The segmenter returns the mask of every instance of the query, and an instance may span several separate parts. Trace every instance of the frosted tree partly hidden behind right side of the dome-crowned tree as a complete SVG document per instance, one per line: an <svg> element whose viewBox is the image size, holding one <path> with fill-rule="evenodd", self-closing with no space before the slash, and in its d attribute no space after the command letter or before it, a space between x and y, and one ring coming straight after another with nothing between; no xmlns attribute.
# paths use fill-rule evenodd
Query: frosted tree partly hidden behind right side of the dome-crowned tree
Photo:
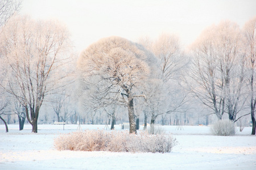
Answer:
<svg viewBox="0 0 256 170"><path fill-rule="evenodd" d="M147 88L148 95L151 96L147 100L147 113L151 117L151 129L154 130L156 117L174 112L184 104L186 92L177 91L180 86L177 86L177 82L180 82L181 71L187 65L187 59L181 51L179 37L175 35L163 33L155 41L141 37L139 43L151 50L158 59L158 80L154 80L151 87ZM177 92L180 92L179 97L175 96Z"/></svg>

